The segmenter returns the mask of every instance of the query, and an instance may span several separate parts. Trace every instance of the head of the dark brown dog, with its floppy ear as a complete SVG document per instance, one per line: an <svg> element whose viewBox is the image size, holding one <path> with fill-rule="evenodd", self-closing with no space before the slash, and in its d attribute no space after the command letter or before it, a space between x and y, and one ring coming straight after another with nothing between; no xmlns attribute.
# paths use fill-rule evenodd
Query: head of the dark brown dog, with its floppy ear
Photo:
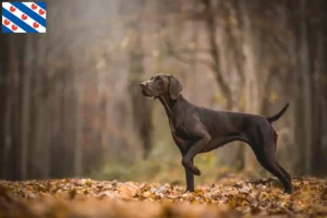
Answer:
<svg viewBox="0 0 327 218"><path fill-rule="evenodd" d="M183 86L172 75L157 74L140 84L142 94L146 97L159 97L160 95L169 95L171 99L177 99L181 94Z"/></svg>

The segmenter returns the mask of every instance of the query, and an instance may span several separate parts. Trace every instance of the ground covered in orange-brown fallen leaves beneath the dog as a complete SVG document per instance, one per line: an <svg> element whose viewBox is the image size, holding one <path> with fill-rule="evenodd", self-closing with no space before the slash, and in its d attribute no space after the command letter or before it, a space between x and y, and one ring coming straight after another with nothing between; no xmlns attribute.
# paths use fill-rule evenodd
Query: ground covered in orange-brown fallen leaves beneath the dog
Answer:
<svg viewBox="0 0 327 218"><path fill-rule="evenodd" d="M2 217L327 217L327 180L221 180L184 186L89 179L0 181Z"/></svg>

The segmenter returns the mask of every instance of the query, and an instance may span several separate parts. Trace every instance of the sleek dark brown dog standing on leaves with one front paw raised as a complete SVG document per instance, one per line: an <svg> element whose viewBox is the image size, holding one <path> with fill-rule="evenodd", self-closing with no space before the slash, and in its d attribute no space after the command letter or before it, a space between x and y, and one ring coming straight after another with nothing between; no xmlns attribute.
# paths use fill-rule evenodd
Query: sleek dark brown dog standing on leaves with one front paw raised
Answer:
<svg viewBox="0 0 327 218"><path fill-rule="evenodd" d="M275 156L278 135L271 126L289 104L272 117L216 111L189 102L181 95L182 84L170 74L157 74L140 85L144 96L159 99L166 110L172 138L182 154L186 192L194 192L194 174L201 175L199 169L193 165L197 154L241 141L249 144L259 164L280 180L284 193L292 193L291 175Z"/></svg>

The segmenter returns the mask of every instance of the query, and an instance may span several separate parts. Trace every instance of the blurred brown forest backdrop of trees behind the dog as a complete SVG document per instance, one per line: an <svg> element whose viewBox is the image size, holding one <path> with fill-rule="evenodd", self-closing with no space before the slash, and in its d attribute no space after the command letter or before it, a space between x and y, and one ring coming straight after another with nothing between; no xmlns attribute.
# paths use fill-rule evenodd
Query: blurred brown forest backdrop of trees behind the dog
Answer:
<svg viewBox="0 0 327 218"><path fill-rule="evenodd" d="M47 34L0 35L0 179L183 182L164 107L138 86L156 73L217 110L272 116L289 101L278 159L327 174L326 0L47 3ZM201 181L266 173L242 143L195 161Z"/></svg>

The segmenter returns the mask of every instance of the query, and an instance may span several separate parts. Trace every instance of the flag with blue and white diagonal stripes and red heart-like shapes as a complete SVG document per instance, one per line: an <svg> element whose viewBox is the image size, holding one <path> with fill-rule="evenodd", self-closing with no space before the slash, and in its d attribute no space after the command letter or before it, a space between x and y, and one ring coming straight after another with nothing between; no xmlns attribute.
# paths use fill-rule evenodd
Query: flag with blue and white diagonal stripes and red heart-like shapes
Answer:
<svg viewBox="0 0 327 218"><path fill-rule="evenodd" d="M2 2L2 33L47 33L46 2Z"/></svg>

